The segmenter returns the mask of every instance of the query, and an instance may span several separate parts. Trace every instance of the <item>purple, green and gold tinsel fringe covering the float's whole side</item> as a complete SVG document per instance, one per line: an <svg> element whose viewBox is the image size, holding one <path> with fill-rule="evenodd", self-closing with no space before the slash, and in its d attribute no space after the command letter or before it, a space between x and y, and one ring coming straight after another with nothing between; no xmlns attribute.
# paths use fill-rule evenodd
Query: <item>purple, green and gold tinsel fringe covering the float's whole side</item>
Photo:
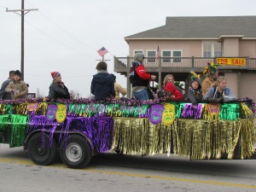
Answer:
<svg viewBox="0 0 256 192"><path fill-rule="evenodd" d="M26 135L37 129L49 132L52 143L58 123L47 123L45 113L49 103L38 102L35 113L30 113L27 119L27 115L20 115L27 113L25 102L0 102L0 131L11 128L10 147L22 146ZM110 148L119 149L123 154L141 155L170 154L173 151L190 160L219 159L223 154L228 154L229 159L237 155L244 159L253 153L254 113L246 102L224 103L214 115L207 110L207 104L200 103L201 108L193 111L186 103L173 102L176 117L187 119L175 119L168 126L162 123L153 125L148 119L148 108L160 101L58 102L67 104L68 114L59 125L59 143L69 137L70 131L79 131L97 152ZM237 145L241 148L238 154L235 153Z"/></svg>

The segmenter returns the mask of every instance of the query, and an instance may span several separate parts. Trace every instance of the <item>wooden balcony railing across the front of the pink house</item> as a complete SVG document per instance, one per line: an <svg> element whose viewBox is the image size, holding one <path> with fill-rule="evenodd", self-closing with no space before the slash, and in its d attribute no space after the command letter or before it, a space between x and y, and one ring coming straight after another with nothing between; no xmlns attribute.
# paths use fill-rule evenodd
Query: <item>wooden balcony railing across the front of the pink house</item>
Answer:
<svg viewBox="0 0 256 192"><path fill-rule="evenodd" d="M232 57L229 57L232 58ZM239 58L239 57L233 57ZM241 70L256 70L256 58L241 57L246 58L245 66L231 66L231 65L221 65L218 69L241 69ZM133 57L114 57L114 70L116 72L127 72L130 70L131 62ZM160 57L156 60L154 57L145 57L143 64L146 68L159 68L162 71L168 69L176 69L178 72L184 69L194 69L199 71L206 67L207 62L216 63L216 57Z"/></svg>

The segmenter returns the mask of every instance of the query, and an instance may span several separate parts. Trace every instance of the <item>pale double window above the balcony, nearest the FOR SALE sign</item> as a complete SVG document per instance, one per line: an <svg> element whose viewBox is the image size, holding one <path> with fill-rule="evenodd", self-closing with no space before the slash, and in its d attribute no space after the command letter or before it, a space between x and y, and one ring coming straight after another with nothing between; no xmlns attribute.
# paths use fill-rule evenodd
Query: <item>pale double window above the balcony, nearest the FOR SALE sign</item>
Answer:
<svg viewBox="0 0 256 192"><path fill-rule="evenodd" d="M203 57L222 56L222 43L205 41L202 44Z"/></svg>

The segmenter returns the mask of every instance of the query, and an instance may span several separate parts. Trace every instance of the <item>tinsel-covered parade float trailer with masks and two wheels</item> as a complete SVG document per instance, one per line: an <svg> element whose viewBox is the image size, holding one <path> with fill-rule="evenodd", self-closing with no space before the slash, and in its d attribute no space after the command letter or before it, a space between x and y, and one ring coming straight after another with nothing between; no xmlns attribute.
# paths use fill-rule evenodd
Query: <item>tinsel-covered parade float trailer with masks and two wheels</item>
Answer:
<svg viewBox="0 0 256 192"><path fill-rule="evenodd" d="M37 165L60 154L71 168L91 156L180 155L189 160L248 159L254 150L252 99L224 104L121 98L0 101L0 143L23 146ZM1 149L1 148L0 148Z"/></svg>

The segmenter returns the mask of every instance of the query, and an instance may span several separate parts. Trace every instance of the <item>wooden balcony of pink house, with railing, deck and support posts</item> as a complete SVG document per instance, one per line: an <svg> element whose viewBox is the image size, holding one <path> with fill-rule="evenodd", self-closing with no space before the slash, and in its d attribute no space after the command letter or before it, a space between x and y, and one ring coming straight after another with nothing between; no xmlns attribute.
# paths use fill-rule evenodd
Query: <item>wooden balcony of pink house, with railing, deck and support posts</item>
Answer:
<svg viewBox="0 0 256 192"><path fill-rule="evenodd" d="M224 57L222 57L224 58ZM239 57L227 57L227 58L239 58ZM218 67L219 74L222 73L256 73L256 58L246 58L245 66L231 66L221 65ZM133 57L114 57L114 72L129 76L131 62ZM154 57L145 57L143 64L146 67L146 71L150 74L154 74L157 78L155 82L161 84L166 77L166 74L172 73L175 81L183 81L188 84L190 71L195 73L203 73L207 62L216 63L216 57L160 57L156 60ZM131 84L130 79L126 81L127 85L127 96L131 96Z"/></svg>

